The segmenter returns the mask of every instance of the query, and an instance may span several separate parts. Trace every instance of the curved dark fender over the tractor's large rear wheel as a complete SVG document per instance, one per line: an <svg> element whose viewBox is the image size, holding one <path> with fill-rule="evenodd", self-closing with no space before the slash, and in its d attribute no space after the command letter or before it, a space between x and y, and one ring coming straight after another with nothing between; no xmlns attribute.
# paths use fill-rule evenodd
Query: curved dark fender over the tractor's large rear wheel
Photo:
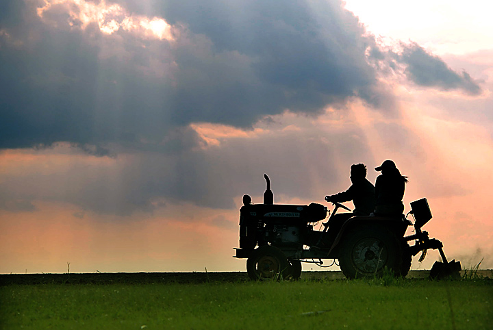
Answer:
<svg viewBox="0 0 493 330"><path fill-rule="evenodd" d="M346 233L349 233L353 228L359 227L360 225L376 225L376 226L383 226L383 227L388 227L392 230L394 227L400 227L402 226L402 236L404 235L405 229L409 225L409 221L405 219L404 216L352 216L344 224L342 225L338 236L336 236L336 240L334 240L329 253L327 255L331 255L338 246L340 245L340 242L342 238L346 235ZM395 230L392 230L395 232ZM397 233L396 233L397 234ZM337 258L336 258L337 259Z"/></svg>

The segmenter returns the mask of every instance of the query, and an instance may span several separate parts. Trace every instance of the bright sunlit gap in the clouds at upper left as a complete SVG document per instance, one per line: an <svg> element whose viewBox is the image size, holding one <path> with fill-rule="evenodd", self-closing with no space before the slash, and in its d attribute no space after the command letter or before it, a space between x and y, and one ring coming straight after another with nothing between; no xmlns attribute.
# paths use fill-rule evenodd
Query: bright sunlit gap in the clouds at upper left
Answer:
<svg viewBox="0 0 493 330"><path fill-rule="evenodd" d="M71 27L86 29L96 23L104 34L114 34L123 29L146 38L173 40L172 27L163 18L133 15L121 5L108 4L104 0L97 4L84 0L44 0L37 13L45 18L45 14L52 10L66 12L69 16L67 23Z"/></svg>

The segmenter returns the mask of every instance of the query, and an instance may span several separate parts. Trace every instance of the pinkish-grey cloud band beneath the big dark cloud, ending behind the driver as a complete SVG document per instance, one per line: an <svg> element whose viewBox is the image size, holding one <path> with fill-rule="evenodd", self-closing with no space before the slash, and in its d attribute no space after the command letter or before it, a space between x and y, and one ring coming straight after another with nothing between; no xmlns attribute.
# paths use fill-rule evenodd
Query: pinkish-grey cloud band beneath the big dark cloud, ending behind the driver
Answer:
<svg viewBox="0 0 493 330"><path fill-rule="evenodd" d="M307 127L312 132L301 134ZM216 126L214 131L221 129ZM278 203L291 199L306 203L322 201L329 190L347 188L349 166L371 160L362 132L351 125L325 131L323 125L314 129L311 118L286 114L255 131L256 136L223 138L217 133L214 143L206 138L200 148L188 151L181 145L184 139L172 139L169 148L176 150L166 153L127 150L101 157L70 144L8 151L1 157L0 168L8 176L0 188L10 193L1 199L8 205L19 200L70 203L118 216L152 213L166 201L231 209L245 193L260 203L263 174L268 173ZM344 164L342 173L338 164Z"/></svg>

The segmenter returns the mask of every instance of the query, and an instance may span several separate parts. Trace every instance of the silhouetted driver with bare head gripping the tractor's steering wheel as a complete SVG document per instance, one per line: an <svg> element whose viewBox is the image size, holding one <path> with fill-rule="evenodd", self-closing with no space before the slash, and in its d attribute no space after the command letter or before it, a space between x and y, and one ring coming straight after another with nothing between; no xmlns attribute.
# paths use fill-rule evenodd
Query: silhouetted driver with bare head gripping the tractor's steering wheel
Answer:
<svg viewBox="0 0 493 330"><path fill-rule="evenodd" d="M344 192L325 196L328 202L348 202L353 201L355 210L352 213L336 214L330 221L332 229L340 229L342 224L351 216L368 216L375 210L375 187L366 179L366 166L364 164L351 165L351 187ZM332 231L337 232L337 231Z"/></svg>

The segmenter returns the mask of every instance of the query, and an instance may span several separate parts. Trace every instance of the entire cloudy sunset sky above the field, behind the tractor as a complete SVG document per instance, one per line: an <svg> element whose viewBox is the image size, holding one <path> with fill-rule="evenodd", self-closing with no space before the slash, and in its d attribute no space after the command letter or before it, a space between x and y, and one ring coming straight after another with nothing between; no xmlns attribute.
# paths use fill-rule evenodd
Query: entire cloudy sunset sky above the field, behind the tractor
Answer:
<svg viewBox="0 0 493 330"><path fill-rule="evenodd" d="M493 268L488 6L1 1L0 273L244 271L264 173L330 209L388 159L448 259Z"/></svg>

